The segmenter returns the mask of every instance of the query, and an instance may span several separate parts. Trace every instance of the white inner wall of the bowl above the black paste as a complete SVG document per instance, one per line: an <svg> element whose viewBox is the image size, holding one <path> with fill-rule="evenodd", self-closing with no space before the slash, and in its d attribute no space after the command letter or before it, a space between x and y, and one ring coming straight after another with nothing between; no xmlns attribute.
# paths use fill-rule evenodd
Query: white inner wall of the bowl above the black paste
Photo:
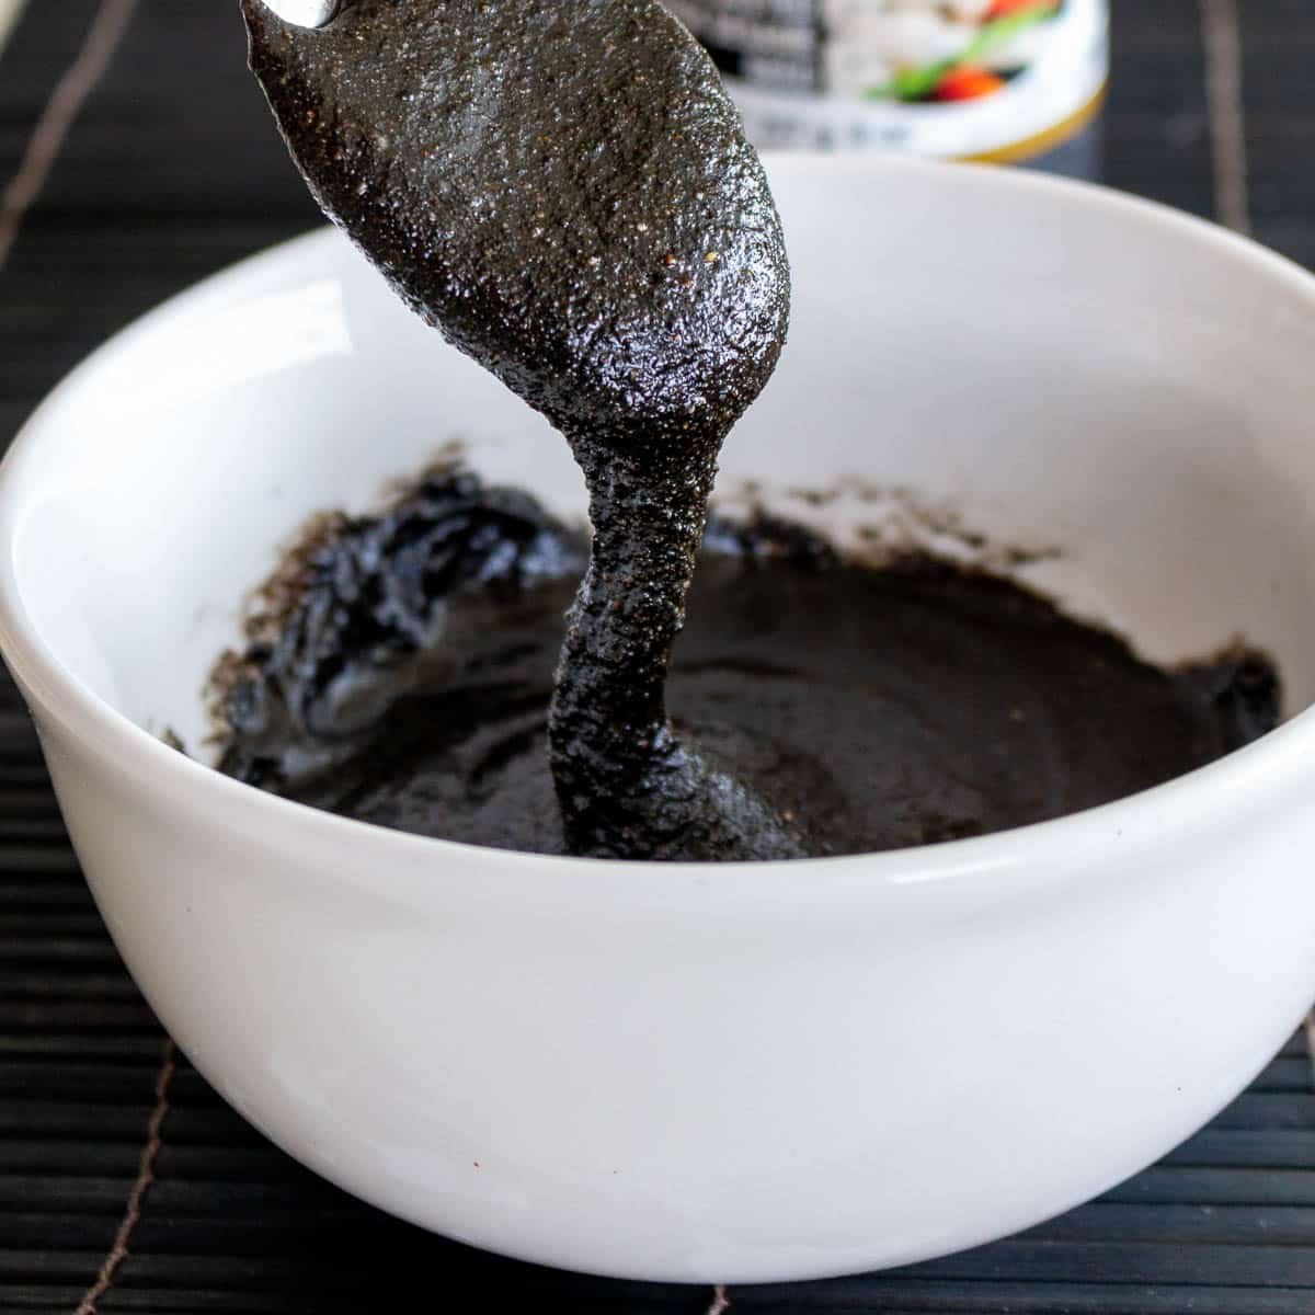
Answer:
<svg viewBox="0 0 1315 1315"><path fill-rule="evenodd" d="M1289 713L1315 698L1312 280L1091 189L907 162L772 175L794 317L727 444L729 497L752 479L840 537L1057 548L1023 579L1147 655L1243 635L1278 658ZM583 514L564 442L316 234L156 312L33 419L3 489L21 606L96 694L199 746L209 665L279 546L454 441Z"/></svg>

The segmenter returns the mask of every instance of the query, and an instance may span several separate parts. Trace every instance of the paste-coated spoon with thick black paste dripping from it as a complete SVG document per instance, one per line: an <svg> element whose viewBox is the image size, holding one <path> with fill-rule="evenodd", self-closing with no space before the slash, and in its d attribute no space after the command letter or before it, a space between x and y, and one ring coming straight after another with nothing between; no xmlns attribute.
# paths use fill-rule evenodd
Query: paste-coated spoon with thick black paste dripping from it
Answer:
<svg viewBox="0 0 1315 1315"><path fill-rule="evenodd" d="M789 313L711 62L654 0L355 0L316 32L243 12L321 206L584 469L594 539L548 729L569 848L801 853L665 710L717 456Z"/></svg>

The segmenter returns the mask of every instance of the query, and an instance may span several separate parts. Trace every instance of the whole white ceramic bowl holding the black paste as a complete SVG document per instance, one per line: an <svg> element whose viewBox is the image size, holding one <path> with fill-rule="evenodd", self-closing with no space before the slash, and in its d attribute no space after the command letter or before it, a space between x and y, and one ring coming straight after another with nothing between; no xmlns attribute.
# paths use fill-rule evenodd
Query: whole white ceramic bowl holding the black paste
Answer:
<svg viewBox="0 0 1315 1315"><path fill-rule="evenodd" d="M1152 658L1272 650L1283 729L1064 821L761 867L466 848L212 773L154 732L200 743L309 512L452 438L584 505L565 444L330 233L121 335L0 477L0 643L164 1024L334 1182L552 1265L782 1279L1007 1233L1207 1120L1315 993L1315 280L1072 184L772 174L793 334L727 481L902 485L1060 544L1026 577Z"/></svg>

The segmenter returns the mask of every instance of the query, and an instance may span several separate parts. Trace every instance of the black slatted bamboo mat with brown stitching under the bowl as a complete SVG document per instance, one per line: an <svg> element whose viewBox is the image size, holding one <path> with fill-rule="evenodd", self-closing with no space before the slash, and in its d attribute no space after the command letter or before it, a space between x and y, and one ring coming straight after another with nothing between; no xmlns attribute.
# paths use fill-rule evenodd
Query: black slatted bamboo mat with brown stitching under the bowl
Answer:
<svg viewBox="0 0 1315 1315"><path fill-rule="evenodd" d="M0 210L0 250L17 230L0 256L0 438L128 320L317 222L245 72L235 11L29 0L0 53L0 187L18 178ZM1315 263L1312 68L1310 0L1116 0L1109 180ZM1304 1039L1161 1165L935 1264L714 1294L501 1261L318 1182L174 1053L0 679L0 1311L701 1315L723 1302L738 1315L1311 1315Z"/></svg>

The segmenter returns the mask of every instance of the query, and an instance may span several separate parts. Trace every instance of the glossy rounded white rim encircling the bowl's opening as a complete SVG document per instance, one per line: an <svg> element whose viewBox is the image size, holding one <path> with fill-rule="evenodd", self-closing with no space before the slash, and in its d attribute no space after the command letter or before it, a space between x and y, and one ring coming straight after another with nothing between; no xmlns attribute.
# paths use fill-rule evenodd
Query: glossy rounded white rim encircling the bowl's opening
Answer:
<svg viewBox="0 0 1315 1315"><path fill-rule="evenodd" d="M1101 184L989 164L942 164L893 155L764 153L764 159L769 172L890 174L894 175L892 187L915 179L928 195L938 189L959 193L1013 189L1031 193L1056 212L1101 212L1115 225L1169 230L1182 241L1211 249L1219 260L1245 268L1256 280L1265 280L1274 288L1285 285L1289 295L1304 297L1315 318L1315 274L1207 220ZM963 201L960 205L964 213L970 213ZM817 903L828 894L852 896L859 888L872 894L897 888L943 890L969 880L978 890L994 888L998 892L1024 873L1028 884L1044 881L1047 873L1070 869L1077 856L1084 868L1099 867L1102 856L1114 846L1126 859L1128 846L1137 840L1162 842L1185 827L1211 821L1219 825L1226 814L1237 817L1261 809L1301 784L1304 764L1315 765L1315 707L1308 707L1260 740L1214 763L1111 803L1045 822L876 853L768 863L661 864L492 849L412 835L268 794L178 752L83 684L46 643L24 605L13 546L33 494L28 469L38 460L47 427L58 429L59 404L75 394L83 379L108 355L156 331L195 300L225 293L246 275L299 252L329 251L345 241L329 226L314 229L250 255L155 306L64 376L18 430L0 463L0 654L47 718L113 761L120 775L137 777L147 790L188 792L192 807L213 811L217 817L231 815L235 810L250 819L251 831L268 839L287 831L302 842L314 842L317 849L322 844L325 852L359 849L362 857L370 856L370 880L380 890L391 876L380 860L392 856L400 865L427 859L426 867L438 882L441 873L446 874L454 865L468 868L473 863L481 881L497 881L513 873L538 880L550 873L575 874L588 876L594 889L601 884L610 890L618 889L614 878L622 877L619 889L648 894L673 893L675 886L684 885L700 892L704 899L726 896L736 897L738 902L739 897L753 896L773 902ZM1286 789L1278 782L1286 782Z"/></svg>

